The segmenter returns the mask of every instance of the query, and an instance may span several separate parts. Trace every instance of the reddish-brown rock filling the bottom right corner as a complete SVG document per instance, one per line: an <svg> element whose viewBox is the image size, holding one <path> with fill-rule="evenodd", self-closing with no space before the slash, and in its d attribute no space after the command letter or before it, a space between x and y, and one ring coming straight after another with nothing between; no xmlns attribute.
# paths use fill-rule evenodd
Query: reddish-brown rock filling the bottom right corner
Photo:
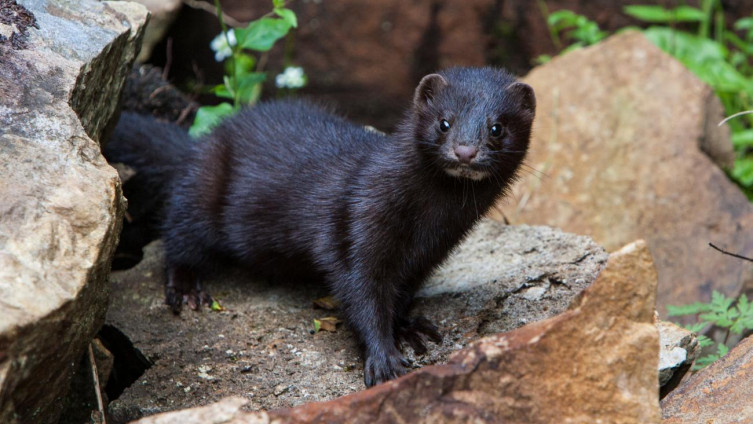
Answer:
<svg viewBox="0 0 753 424"><path fill-rule="evenodd" d="M693 374L661 402L662 424L753 422L753 338Z"/></svg>

